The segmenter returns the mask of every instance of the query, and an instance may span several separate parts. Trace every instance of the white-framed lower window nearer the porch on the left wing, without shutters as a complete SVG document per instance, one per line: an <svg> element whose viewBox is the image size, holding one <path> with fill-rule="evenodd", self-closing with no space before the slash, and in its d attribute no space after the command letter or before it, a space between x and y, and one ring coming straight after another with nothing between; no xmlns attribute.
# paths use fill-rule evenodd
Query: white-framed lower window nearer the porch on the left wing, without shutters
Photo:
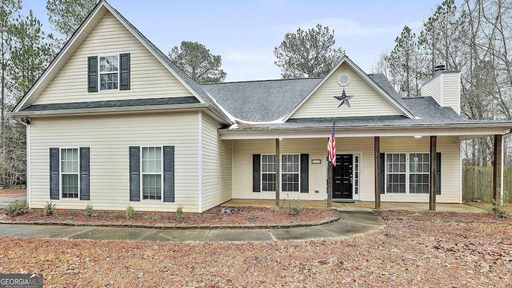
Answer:
<svg viewBox="0 0 512 288"><path fill-rule="evenodd" d="M162 148L142 147L142 199L162 200Z"/></svg>

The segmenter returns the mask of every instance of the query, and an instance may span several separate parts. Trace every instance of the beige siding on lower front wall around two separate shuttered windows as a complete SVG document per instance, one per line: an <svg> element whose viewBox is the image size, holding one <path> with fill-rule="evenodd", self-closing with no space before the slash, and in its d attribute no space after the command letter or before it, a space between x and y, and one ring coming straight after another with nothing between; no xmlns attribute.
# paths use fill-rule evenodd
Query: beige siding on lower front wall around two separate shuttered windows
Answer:
<svg viewBox="0 0 512 288"><path fill-rule="evenodd" d="M31 205L50 200L50 148L90 148L90 200L53 200L57 209L198 212L198 112L31 119ZM175 147L175 202L130 201L129 147Z"/></svg>

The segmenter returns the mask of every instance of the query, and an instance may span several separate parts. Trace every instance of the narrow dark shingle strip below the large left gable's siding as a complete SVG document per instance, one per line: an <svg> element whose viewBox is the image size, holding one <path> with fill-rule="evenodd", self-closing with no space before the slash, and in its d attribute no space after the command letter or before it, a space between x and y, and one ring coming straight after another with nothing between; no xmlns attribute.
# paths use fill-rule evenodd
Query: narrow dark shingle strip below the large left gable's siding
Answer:
<svg viewBox="0 0 512 288"><path fill-rule="evenodd" d="M148 99L125 99L109 101L73 102L31 105L20 110L20 112L55 111L55 110L77 110L96 108L121 108L121 107L142 107L161 106L178 104L198 104L199 100L194 96L170 97L170 98L148 98Z"/></svg>

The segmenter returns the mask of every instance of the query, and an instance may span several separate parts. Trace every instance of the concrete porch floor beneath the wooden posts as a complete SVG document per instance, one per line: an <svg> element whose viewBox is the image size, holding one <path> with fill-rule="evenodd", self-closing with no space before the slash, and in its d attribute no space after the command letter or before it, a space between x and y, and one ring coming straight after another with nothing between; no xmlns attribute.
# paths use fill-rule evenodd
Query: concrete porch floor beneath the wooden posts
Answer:
<svg viewBox="0 0 512 288"><path fill-rule="evenodd" d="M327 201L320 200L301 200L301 202L308 208L326 208ZM281 200L281 205L283 200ZM222 206L243 207L273 207L275 200L268 199L231 199L221 204ZM332 208L337 210L369 210L374 208L374 202L361 202L355 203L336 203L332 202ZM383 210L396 209L396 210L410 210L410 211L428 211L429 203L411 203L411 202L380 202L380 208ZM463 204L446 204L436 203L436 211L440 212L485 212L485 210L474 208Z"/></svg>

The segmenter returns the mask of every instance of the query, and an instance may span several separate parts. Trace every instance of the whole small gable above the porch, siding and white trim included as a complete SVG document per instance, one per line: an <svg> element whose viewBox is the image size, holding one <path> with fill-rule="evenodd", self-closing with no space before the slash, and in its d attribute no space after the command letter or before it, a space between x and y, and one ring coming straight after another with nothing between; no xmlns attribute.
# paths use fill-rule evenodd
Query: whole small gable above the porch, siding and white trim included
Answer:
<svg viewBox="0 0 512 288"><path fill-rule="evenodd" d="M338 85L338 76L347 74L350 83L345 87ZM339 101L334 96L354 95L349 100L350 108L338 108ZM400 102L382 89L375 81L357 67L347 56L329 72L313 88L309 94L284 118L311 117L348 117L348 116L378 116L405 115L414 118L413 114Z"/></svg>

